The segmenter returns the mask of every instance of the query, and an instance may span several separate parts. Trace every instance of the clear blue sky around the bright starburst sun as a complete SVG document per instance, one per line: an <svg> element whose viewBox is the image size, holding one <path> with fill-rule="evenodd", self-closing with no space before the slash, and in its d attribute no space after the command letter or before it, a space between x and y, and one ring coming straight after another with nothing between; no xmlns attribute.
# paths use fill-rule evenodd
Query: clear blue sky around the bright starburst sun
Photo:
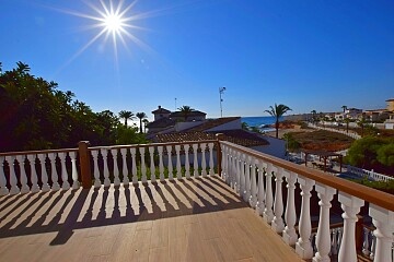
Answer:
<svg viewBox="0 0 394 262"><path fill-rule="evenodd" d="M100 7L0 0L3 70L23 61L94 111L150 118L175 98L219 117L220 86L224 116L264 116L275 103L294 114L375 109L394 98L392 0L140 0L126 16L141 28L127 31L144 45L117 39L117 61L104 36L76 57L102 29L70 14L99 16L86 2Z"/></svg>

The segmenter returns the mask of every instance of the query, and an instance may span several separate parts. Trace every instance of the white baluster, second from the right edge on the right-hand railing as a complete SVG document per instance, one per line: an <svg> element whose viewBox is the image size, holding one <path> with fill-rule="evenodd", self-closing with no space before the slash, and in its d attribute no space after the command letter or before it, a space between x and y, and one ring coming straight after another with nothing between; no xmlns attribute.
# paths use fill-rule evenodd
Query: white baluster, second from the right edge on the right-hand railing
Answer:
<svg viewBox="0 0 394 262"><path fill-rule="evenodd" d="M344 210L341 215L344 218L344 234L338 261L357 261L356 222L358 221L357 214L364 202L361 199L344 192L339 192L338 201L341 203L340 206Z"/></svg>

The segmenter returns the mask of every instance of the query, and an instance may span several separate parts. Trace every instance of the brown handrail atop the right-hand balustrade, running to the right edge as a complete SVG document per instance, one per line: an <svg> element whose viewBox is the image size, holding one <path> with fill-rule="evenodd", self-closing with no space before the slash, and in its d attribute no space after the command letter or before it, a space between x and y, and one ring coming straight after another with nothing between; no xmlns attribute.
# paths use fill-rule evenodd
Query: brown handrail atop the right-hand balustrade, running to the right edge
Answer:
<svg viewBox="0 0 394 262"><path fill-rule="evenodd" d="M316 182L329 186L359 199L363 199L386 210L394 211L394 195L392 194L359 183L355 183L343 178L328 176L327 174L324 174L320 170L311 169L291 162L287 162L251 148L243 147L241 145L233 144L228 141L220 141L220 143L223 143L229 147L233 147L242 153L269 162L277 167L285 168L288 171L302 175L306 178L315 180Z"/></svg>

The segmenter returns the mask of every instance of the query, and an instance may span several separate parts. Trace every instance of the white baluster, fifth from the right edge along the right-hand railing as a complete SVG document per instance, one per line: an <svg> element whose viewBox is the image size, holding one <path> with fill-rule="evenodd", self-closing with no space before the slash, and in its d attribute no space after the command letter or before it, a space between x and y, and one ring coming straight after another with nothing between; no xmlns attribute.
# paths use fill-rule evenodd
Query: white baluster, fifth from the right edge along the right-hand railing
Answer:
<svg viewBox="0 0 394 262"><path fill-rule="evenodd" d="M292 171L283 172L287 181L287 203L286 203L286 212L285 212L285 219L286 219L286 227L282 233L282 238L286 243L289 246L293 246L297 242L298 236L296 233L296 204L294 204L294 190L296 190L296 181L298 175Z"/></svg>

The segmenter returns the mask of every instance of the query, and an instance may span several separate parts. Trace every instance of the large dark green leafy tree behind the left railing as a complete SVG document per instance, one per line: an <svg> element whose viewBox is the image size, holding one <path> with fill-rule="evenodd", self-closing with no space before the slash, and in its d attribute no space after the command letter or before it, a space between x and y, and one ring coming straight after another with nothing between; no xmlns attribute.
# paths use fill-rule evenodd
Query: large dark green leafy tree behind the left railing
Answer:
<svg viewBox="0 0 394 262"><path fill-rule="evenodd" d="M31 74L25 63L10 71L0 63L0 151L76 147L81 140L116 144L120 122L112 111L93 112L72 92L57 87Z"/></svg>

